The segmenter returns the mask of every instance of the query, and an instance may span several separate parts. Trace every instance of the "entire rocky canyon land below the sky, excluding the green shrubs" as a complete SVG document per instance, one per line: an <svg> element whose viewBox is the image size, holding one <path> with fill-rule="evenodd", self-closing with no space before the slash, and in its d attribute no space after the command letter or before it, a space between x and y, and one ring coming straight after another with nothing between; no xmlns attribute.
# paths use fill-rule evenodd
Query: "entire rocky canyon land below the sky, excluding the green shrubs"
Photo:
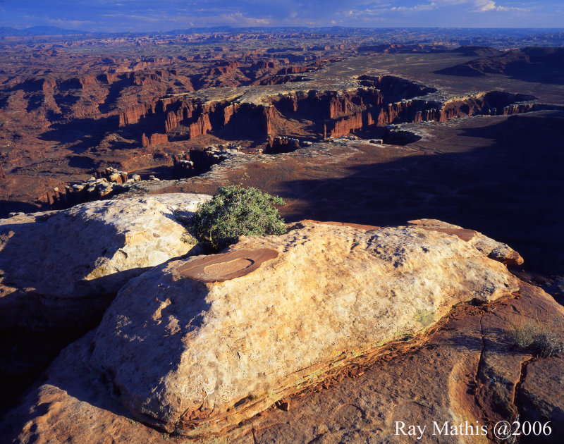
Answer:
<svg viewBox="0 0 564 444"><path fill-rule="evenodd" d="M0 436L561 428L562 36L465 32L1 37ZM230 184L288 233L205 254Z"/></svg>

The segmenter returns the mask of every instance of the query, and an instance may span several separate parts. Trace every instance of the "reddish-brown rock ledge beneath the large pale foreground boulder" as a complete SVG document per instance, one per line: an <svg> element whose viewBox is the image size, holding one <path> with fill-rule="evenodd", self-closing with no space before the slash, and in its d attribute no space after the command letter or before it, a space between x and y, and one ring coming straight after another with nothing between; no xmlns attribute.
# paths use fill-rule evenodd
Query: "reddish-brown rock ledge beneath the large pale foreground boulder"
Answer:
<svg viewBox="0 0 564 444"><path fill-rule="evenodd" d="M291 397L288 411L278 402L278 408L233 431L201 440L163 434L116 405L111 382L87 364L92 332L64 350L42 382L6 414L0 436L7 443L35 444L400 444L410 438L396 435L395 421L405 421L427 426L419 442L491 443L493 424L513 420L500 411L500 400L512 405L515 386L522 383L520 420L546 424L551 419L552 434L541 436L541 442L556 442L563 424L563 359L531 361L529 350L515 349L507 335L512 323L539 313L550 313L544 326L564 338L563 307L532 285L520 283L514 298L460 304L422 334L421 342L396 341L384 350L384 359L357 357L355 362L364 362L363 374L343 377L353 371L339 368L322 390L320 383L314 393ZM489 435L433 436L432 421L478 423L488 427Z"/></svg>

